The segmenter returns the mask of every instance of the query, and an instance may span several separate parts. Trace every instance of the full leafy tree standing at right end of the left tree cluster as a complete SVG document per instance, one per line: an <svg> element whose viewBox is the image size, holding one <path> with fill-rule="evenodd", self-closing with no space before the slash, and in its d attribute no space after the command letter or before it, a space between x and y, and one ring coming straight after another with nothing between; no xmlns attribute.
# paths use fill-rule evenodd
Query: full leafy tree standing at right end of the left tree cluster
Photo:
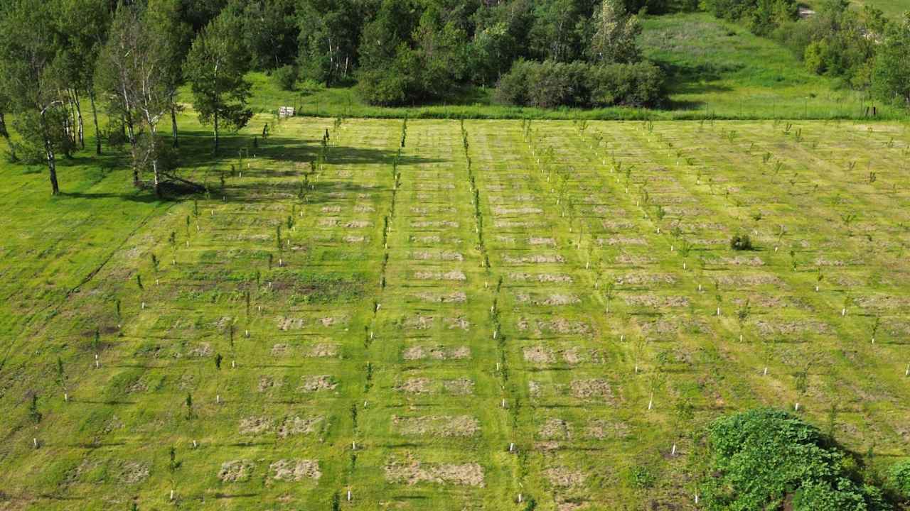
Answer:
<svg viewBox="0 0 910 511"><path fill-rule="evenodd" d="M228 11L211 21L193 41L183 67L193 91L193 107L203 123L239 129L253 116L247 107L251 84L244 79L249 65L239 40L241 22Z"/></svg>

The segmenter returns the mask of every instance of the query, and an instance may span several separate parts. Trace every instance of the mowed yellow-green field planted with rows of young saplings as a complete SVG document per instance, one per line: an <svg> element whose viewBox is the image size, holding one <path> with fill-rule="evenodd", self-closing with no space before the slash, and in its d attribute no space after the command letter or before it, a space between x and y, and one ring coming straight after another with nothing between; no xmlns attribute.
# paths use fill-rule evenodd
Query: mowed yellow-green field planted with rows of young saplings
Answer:
<svg viewBox="0 0 910 511"><path fill-rule="evenodd" d="M11 508L695 508L761 405L905 456L904 125L265 122L181 118L197 202L4 165Z"/></svg>

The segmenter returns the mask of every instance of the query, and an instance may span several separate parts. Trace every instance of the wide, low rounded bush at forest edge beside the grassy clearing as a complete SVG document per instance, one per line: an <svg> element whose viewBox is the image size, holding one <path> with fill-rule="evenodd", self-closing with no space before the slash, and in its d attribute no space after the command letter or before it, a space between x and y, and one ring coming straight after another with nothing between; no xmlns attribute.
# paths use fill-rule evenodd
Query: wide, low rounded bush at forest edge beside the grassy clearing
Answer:
<svg viewBox="0 0 910 511"><path fill-rule="evenodd" d="M651 63L591 65L518 60L496 90L509 105L654 105L663 95L663 73Z"/></svg>

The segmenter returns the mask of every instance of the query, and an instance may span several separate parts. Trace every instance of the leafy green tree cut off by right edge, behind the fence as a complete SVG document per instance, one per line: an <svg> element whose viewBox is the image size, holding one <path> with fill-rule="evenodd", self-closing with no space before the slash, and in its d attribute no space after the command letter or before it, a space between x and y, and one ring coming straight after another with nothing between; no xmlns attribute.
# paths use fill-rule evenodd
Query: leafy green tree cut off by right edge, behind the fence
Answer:
<svg viewBox="0 0 910 511"><path fill-rule="evenodd" d="M873 86L883 100L910 108L910 11L885 33L875 57Z"/></svg>

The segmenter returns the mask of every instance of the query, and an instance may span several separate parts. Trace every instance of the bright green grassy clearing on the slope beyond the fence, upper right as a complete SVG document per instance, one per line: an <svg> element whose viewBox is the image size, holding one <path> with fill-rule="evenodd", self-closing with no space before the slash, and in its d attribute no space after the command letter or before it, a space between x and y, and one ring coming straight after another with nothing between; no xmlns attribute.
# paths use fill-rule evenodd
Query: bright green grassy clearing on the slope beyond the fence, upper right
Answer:
<svg viewBox="0 0 910 511"><path fill-rule="evenodd" d="M712 15L653 16L643 27L643 53L668 70L672 107L682 112L743 119L858 118L873 104L809 72L784 46ZM878 108L881 115L901 115Z"/></svg>

